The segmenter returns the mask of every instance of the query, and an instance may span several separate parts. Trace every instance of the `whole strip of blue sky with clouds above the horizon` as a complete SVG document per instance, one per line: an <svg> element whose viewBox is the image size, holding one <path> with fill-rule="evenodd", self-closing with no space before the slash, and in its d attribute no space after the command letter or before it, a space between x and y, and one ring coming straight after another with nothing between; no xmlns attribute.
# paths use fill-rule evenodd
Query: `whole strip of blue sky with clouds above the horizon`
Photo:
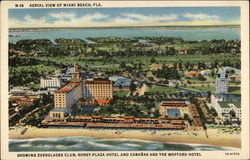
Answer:
<svg viewBox="0 0 250 160"><path fill-rule="evenodd" d="M240 24L240 7L9 9L9 27L119 27Z"/></svg>

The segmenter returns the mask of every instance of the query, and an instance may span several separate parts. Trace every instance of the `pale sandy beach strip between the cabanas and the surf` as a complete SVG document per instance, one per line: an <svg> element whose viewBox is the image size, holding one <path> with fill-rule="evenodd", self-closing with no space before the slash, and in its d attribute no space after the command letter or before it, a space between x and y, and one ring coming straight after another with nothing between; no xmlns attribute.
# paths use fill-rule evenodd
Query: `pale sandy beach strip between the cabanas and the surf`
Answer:
<svg viewBox="0 0 250 160"><path fill-rule="evenodd" d="M35 128L11 129L10 139L87 136L105 139L139 139L157 142L207 144L222 147L241 147L240 134L223 133L219 129L208 129L208 138L204 131L169 131L169 130L111 130L111 129L77 129L77 128Z"/></svg>

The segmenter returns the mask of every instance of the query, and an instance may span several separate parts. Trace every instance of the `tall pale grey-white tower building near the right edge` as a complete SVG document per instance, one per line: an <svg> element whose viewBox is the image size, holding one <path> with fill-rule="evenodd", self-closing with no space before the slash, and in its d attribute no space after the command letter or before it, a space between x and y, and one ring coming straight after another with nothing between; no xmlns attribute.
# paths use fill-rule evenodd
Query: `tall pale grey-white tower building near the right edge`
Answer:
<svg viewBox="0 0 250 160"><path fill-rule="evenodd" d="M220 74L217 75L215 85L216 91L215 93L228 93L228 76L226 72L221 71Z"/></svg>

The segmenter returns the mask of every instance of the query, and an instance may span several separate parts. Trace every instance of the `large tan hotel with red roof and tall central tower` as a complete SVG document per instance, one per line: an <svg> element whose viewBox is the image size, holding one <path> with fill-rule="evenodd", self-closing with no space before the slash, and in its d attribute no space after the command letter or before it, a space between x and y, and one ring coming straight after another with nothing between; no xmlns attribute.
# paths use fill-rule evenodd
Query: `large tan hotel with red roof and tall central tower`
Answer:
<svg viewBox="0 0 250 160"><path fill-rule="evenodd" d="M81 98L79 104L106 105L113 98L112 82L105 79L82 81L78 64L74 64L71 82L58 89L54 94L55 108L50 111L50 120L65 120L70 110Z"/></svg>

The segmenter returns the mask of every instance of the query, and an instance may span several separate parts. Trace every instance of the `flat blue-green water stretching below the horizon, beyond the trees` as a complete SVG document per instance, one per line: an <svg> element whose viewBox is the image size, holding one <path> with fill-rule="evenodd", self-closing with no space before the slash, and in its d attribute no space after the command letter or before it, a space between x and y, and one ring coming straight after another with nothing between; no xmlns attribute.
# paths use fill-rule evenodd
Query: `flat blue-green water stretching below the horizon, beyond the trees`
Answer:
<svg viewBox="0 0 250 160"><path fill-rule="evenodd" d="M19 37L9 37L10 42L17 42L21 39L50 39L56 38L79 38L88 37L181 37L184 40L211 40L211 39L240 39L240 28L223 27L153 27L153 28L80 28L64 29L51 31L29 31L29 32L11 32L12 35Z"/></svg>

